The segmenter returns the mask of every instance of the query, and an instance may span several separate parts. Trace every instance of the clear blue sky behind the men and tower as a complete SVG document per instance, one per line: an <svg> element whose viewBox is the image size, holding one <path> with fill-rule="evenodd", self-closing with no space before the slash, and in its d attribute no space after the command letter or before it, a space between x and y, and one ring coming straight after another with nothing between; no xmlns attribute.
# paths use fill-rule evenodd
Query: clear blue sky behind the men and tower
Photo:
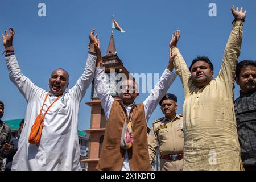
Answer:
<svg viewBox="0 0 256 182"><path fill-rule="evenodd" d="M38 16L38 4L46 4L46 17ZM217 16L210 17L209 3L216 3ZM255 60L256 50L256 1L59 1L13 0L0 2L1 34L13 27L15 53L20 68L37 86L48 90L48 80L56 68L69 72L73 86L81 76L88 53L89 32L96 28L101 40L102 52L108 47L112 15L126 31L114 31L117 55L131 73L162 74L168 63L168 43L172 32L179 28L180 51L190 65L197 55L206 55L214 65L214 76L221 67L222 55L232 29L232 5L243 6L247 17L243 31L242 50L239 60ZM2 42L2 40L1 40ZM0 51L4 47L1 46ZM0 60L0 100L5 102L3 120L24 118L27 103L22 94L9 80L5 59ZM70 87L69 87L70 88ZM91 88L83 98L79 111L79 130L90 126ZM239 89L236 86L235 97ZM179 78L168 90L176 94L182 113L183 87ZM141 94L136 102L142 102L147 94ZM148 125L162 117L157 107Z"/></svg>

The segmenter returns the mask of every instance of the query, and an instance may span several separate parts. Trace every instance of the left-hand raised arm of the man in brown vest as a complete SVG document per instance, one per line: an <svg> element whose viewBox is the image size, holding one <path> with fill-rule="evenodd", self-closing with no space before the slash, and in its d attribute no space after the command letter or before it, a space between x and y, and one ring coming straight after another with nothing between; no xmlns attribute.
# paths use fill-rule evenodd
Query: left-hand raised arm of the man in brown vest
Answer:
<svg viewBox="0 0 256 182"><path fill-rule="evenodd" d="M100 40L94 44L96 51L96 71L94 76L94 89L101 100L101 106L104 109L106 120L108 121L110 110L114 102L114 98L110 95L109 85L106 81L105 67L102 67L102 57L100 49Z"/></svg>

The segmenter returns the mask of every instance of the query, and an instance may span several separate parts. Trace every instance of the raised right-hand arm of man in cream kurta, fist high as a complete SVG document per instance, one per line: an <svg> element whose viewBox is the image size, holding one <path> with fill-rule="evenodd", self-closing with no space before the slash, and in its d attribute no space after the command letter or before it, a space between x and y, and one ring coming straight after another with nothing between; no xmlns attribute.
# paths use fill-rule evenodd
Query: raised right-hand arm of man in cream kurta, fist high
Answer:
<svg viewBox="0 0 256 182"><path fill-rule="evenodd" d="M243 22L245 20L246 11L243 11L242 7L239 10L238 7L235 9L234 6L232 6L232 14L235 19L228 43L226 44L218 78L224 81L225 84L228 84L229 88L233 91L234 74L236 72L237 59L240 56Z"/></svg>

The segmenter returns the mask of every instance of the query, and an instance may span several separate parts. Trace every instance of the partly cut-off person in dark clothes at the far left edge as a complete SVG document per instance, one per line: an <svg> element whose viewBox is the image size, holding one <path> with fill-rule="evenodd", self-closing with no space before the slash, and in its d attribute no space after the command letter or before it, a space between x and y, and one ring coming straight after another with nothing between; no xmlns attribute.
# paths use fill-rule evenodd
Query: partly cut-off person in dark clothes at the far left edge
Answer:
<svg viewBox="0 0 256 182"><path fill-rule="evenodd" d="M4 169L3 159L6 158L9 152L14 148L11 129L1 120L4 109L5 105L0 101L0 171Z"/></svg>

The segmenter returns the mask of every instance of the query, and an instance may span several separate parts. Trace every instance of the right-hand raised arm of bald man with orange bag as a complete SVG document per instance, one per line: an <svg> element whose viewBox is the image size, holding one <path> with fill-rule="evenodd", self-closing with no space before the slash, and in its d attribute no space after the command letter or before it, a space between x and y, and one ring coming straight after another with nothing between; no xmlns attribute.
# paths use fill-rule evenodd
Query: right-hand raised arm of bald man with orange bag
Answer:
<svg viewBox="0 0 256 182"><path fill-rule="evenodd" d="M69 92L73 92L77 101L81 101L82 97L84 97L86 90L92 83L94 77L94 71L96 67L96 53L94 51L94 43L97 41L98 34L94 35L95 29L90 32L89 39L89 53L86 60L86 67L84 69L84 73L77 80L76 85L73 86Z"/></svg>

